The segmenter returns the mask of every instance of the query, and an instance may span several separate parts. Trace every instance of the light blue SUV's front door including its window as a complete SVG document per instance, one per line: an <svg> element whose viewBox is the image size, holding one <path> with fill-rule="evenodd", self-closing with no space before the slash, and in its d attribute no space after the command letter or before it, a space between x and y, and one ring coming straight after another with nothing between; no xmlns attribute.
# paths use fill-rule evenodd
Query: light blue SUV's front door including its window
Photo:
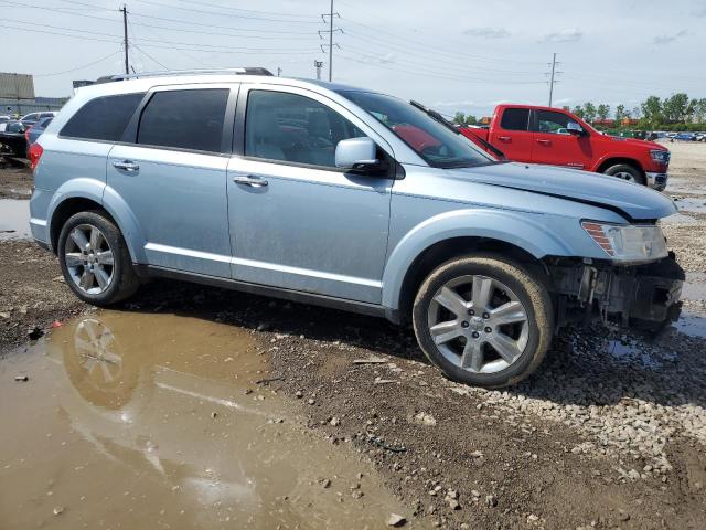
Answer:
<svg viewBox="0 0 706 530"><path fill-rule="evenodd" d="M366 130L310 91L243 86L227 179L235 279L381 301L393 180L334 163L336 144Z"/></svg>

